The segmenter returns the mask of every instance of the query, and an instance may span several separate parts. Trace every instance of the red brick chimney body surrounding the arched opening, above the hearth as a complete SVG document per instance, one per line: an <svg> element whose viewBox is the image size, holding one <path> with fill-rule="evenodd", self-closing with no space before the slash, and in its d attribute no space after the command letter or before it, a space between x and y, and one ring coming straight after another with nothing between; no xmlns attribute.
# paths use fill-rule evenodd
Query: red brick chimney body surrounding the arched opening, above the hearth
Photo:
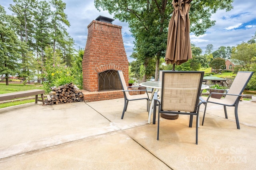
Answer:
<svg viewBox="0 0 256 170"><path fill-rule="evenodd" d="M129 64L121 29L121 26L96 20L88 25L82 61L84 90L98 92L98 73L106 70L122 70L128 83Z"/></svg>

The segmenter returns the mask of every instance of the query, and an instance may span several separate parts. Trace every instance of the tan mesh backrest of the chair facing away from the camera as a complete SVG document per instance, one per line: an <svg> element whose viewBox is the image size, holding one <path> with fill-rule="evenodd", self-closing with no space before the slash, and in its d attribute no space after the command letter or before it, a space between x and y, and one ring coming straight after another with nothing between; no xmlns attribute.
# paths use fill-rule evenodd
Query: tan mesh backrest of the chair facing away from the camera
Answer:
<svg viewBox="0 0 256 170"><path fill-rule="evenodd" d="M164 111L196 112L203 71L163 71L161 107Z"/></svg>

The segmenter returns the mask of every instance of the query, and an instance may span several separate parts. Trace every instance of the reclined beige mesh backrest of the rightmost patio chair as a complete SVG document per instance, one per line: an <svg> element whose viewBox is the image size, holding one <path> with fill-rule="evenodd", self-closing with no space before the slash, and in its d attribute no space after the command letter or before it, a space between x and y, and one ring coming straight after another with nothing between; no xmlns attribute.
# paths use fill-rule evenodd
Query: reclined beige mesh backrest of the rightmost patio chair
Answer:
<svg viewBox="0 0 256 170"><path fill-rule="evenodd" d="M228 94L242 94L242 92L244 91L244 88L246 87L247 83L252 77L252 74L253 72L249 72L249 71L239 71L236 74L236 77L228 90ZM226 95L225 98L228 100L234 100L235 102L238 96Z"/></svg>

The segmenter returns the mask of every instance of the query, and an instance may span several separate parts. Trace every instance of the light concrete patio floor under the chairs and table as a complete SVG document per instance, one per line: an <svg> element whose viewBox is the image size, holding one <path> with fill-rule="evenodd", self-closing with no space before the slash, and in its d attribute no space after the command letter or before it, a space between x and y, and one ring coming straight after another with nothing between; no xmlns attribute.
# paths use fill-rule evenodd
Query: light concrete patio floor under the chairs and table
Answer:
<svg viewBox="0 0 256 170"><path fill-rule="evenodd" d="M195 118L147 123L146 100L124 98L53 106L29 103L0 109L0 169L256 169L256 102L200 108L198 145ZM152 119L151 119L152 120ZM156 122L157 123L157 122Z"/></svg>

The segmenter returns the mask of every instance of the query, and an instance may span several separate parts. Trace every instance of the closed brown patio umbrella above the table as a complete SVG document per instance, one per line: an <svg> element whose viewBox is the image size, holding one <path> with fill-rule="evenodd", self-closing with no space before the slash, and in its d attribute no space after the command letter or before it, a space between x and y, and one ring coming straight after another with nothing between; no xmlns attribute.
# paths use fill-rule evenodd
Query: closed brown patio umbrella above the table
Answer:
<svg viewBox="0 0 256 170"><path fill-rule="evenodd" d="M173 0L172 18L168 27L166 64L180 65L192 59L190 45L190 20L188 12L192 0ZM173 70L174 70L173 66Z"/></svg>

